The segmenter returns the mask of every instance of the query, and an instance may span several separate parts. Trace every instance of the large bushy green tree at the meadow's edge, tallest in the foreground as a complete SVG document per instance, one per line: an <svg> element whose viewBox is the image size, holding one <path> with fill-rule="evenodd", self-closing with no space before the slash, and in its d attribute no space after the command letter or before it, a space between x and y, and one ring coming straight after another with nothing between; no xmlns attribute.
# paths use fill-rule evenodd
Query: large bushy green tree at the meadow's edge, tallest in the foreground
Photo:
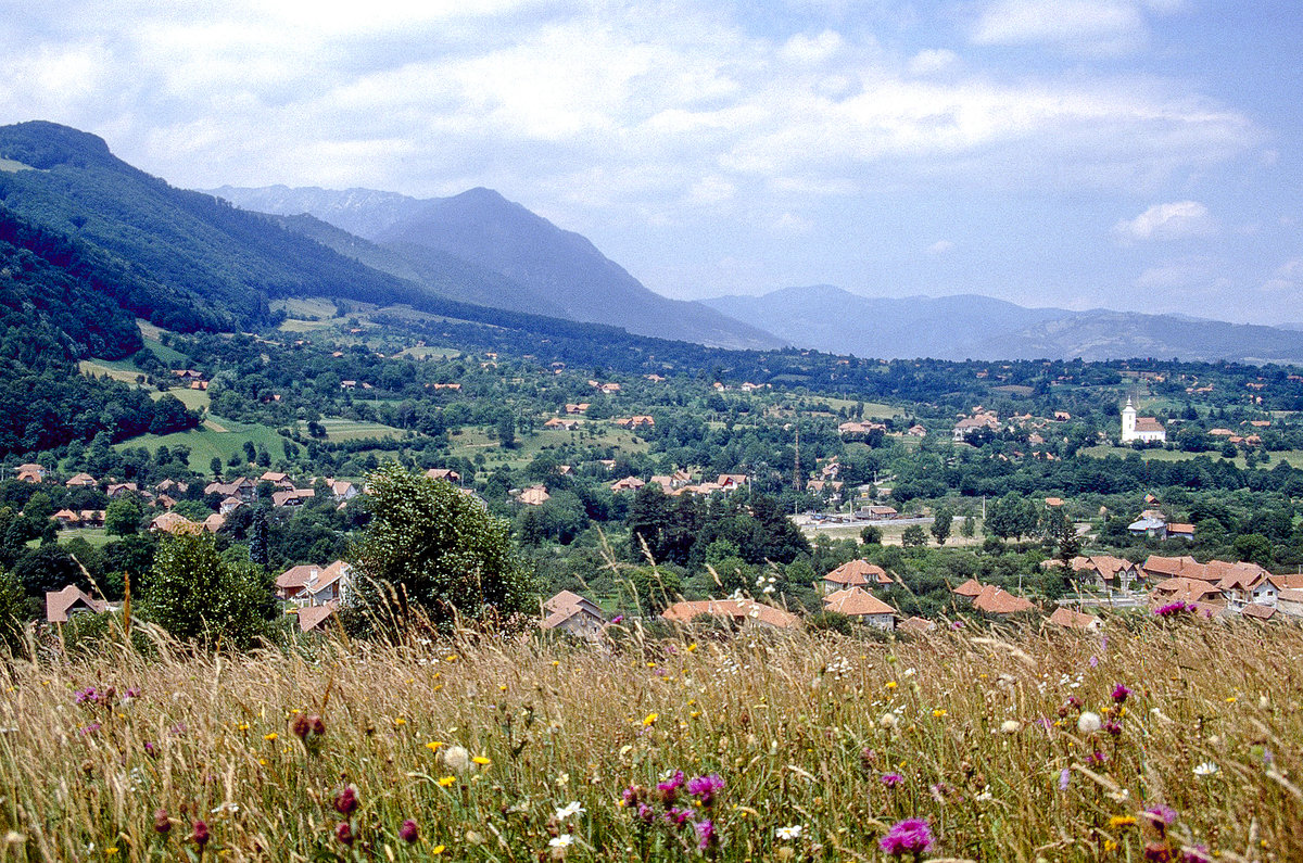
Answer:
<svg viewBox="0 0 1303 863"><path fill-rule="evenodd" d="M435 626L460 614L506 621L536 610L533 579L511 545L511 524L447 482L390 461L367 477L371 523L357 563L365 579L360 604L392 596L392 619L405 624L413 606ZM383 585L392 585L392 594Z"/></svg>

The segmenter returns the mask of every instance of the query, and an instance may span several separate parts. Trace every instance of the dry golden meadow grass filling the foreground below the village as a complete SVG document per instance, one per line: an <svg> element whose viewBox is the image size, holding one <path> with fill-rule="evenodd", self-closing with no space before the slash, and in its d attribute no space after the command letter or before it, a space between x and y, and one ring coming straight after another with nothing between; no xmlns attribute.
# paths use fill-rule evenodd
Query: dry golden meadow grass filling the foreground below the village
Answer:
<svg viewBox="0 0 1303 863"><path fill-rule="evenodd" d="M193 858L202 819L206 853L229 860L440 846L469 860L693 859L691 825L641 828L619 806L625 786L683 769L726 782L722 845L706 853L719 859L881 859L886 825L919 815L938 856L1139 860L1156 804L1177 813L1174 849L1303 859L1298 628L625 635L601 649L485 637L216 658L160 641L154 658L16 660L0 680L0 854ZM1067 700L1104 713L1117 683L1135 690L1121 735L1079 734ZM77 704L86 687L115 687L112 707ZM129 687L141 692L124 703ZM315 752L292 731L298 712L323 718ZM453 746L489 763L459 772L440 757ZM1217 769L1196 776L1201 764ZM351 847L332 806L345 783L361 802ZM585 812L558 820L571 800ZM405 819L416 845L399 838ZM780 840L790 825L800 837ZM559 833L573 843L550 846Z"/></svg>

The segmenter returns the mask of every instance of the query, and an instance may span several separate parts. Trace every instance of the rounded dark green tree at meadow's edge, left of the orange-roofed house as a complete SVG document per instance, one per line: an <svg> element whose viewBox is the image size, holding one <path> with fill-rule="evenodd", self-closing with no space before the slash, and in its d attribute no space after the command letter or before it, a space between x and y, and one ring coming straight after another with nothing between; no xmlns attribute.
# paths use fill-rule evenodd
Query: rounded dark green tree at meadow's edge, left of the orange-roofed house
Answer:
<svg viewBox="0 0 1303 863"><path fill-rule="evenodd" d="M223 561L208 534L164 540L143 593L142 617L184 641L248 648L268 635L276 614L270 579Z"/></svg>

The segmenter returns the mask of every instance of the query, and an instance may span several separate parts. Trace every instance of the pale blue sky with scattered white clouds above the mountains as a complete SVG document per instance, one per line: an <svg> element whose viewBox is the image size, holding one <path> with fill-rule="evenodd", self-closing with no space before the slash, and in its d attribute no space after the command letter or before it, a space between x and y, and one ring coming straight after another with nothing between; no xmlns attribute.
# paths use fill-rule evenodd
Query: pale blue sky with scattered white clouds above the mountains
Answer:
<svg viewBox="0 0 1303 863"><path fill-rule="evenodd" d="M489 186L681 299L1303 321L1290 0L5 7L0 124L177 186Z"/></svg>

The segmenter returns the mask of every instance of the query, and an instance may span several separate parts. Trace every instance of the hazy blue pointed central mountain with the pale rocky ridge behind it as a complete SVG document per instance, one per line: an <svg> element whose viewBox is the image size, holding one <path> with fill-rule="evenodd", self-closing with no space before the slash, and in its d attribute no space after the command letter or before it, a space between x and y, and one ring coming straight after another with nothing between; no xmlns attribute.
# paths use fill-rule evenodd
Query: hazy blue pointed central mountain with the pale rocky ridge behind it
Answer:
<svg viewBox="0 0 1303 863"><path fill-rule="evenodd" d="M281 222L367 266L464 302L715 347L783 344L700 302L649 291L588 239L491 189L426 199L370 189L222 186L208 192L246 210L310 215L334 224L344 233L302 219Z"/></svg>

